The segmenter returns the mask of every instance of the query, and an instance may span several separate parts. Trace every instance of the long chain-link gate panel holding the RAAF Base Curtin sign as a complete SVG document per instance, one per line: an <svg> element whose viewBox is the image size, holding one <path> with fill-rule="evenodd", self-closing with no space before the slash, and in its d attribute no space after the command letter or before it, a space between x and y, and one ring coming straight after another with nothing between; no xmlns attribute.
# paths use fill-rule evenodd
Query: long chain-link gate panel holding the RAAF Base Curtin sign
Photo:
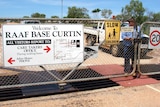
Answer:
<svg viewBox="0 0 160 107"><path fill-rule="evenodd" d="M100 32L104 31L104 27L97 31L97 36L92 34L96 31L98 23L104 22L105 20L50 19L50 21L40 21L42 24L83 24L84 31L87 28L92 29L90 34L84 32L84 62L39 66L3 67L2 35L0 37L0 89L16 87L23 88L27 86L34 87L46 84L58 84L61 86L64 83L70 82L83 82L125 76L122 41L120 41L117 45L104 44L105 35L103 35L104 37L100 35ZM137 57L137 45L138 43L135 43L135 60ZM90 47L96 47L97 52ZM95 55L95 53L97 55ZM134 61L133 71L129 75L132 75L135 71L136 61Z"/></svg>

